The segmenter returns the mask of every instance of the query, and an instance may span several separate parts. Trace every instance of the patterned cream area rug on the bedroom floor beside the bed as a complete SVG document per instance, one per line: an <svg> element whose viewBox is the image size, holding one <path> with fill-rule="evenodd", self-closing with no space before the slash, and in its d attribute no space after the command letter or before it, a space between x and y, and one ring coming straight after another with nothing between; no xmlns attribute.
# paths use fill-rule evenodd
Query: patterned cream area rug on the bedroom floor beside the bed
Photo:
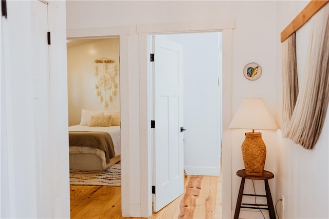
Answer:
<svg viewBox="0 0 329 219"><path fill-rule="evenodd" d="M70 185L121 186L121 165L114 164L104 171L70 170Z"/></svg>

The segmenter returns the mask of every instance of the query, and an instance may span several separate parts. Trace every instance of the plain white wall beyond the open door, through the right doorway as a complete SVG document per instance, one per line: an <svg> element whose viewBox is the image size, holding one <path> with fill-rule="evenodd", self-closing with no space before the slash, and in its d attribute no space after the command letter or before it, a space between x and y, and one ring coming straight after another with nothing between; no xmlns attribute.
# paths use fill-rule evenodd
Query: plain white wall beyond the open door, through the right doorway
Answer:
<svg viewBox="0 0 329 219"><path fill-rule="evenodd" d="M220 174L218 33L170 34L184 47L184 169Z"/></svg>

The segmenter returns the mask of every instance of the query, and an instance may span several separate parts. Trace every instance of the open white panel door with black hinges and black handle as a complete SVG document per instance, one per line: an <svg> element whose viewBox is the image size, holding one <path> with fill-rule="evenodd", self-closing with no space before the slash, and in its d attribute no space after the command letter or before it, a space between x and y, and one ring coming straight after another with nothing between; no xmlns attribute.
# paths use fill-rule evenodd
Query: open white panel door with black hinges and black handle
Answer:
<svg viewBox="0 0 329 219"><path fill-rule="evenodd" d="M153 211L184 193L182 45L153 37ZM182 128L182 131L181 131Z"/></svg>

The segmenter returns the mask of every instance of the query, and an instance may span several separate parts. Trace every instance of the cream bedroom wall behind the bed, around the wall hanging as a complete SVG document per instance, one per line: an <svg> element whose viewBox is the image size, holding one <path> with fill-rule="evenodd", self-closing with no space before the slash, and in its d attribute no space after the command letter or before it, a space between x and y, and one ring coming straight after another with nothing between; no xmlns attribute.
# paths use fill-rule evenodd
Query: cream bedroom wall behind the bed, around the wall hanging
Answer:
<svg viewBox="0 0 329 219"><path fill-rule="evenodd" d="M113 59L116 64L116 82L119 85L119 38L99 39L67 49L68 124L80 123L81 109L120 111L120 87L113 102L104 108L96 95L95 59ZM102 71L100 69L99 71Z"/></svg>

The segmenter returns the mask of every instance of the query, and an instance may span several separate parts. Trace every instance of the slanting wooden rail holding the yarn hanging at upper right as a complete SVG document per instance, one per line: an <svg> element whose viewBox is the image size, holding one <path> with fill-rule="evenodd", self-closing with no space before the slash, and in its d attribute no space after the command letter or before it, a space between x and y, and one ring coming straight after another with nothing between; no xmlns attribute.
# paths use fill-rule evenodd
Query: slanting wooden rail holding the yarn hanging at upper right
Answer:
<svg viewBox="0 0 329 219"><path fill-rule="evenodd" d="M314 14L316 14L329 0L316 1L312 0L306 7L295 17L295 19L281 32L281 43L291 34L301 28Z"/></svg>

